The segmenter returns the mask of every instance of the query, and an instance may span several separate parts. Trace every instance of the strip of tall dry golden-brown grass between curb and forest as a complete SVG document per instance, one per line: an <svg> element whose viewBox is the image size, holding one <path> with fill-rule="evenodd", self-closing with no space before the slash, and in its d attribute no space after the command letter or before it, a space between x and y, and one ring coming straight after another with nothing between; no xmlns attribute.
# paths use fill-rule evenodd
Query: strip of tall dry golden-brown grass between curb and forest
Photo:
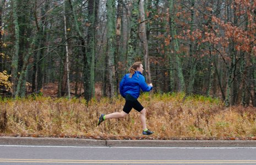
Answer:
<svg viewBox="0 0 256 165"><path fill-rule="evenodd" d="M106 120L97 127L100 113L120 112L123 98L52 99L35 97L0 101L0 135L94 139L255 139L253 107L225 107L219 99L183 93L145 93L150 136L141 135L139 113Z"/></svg>

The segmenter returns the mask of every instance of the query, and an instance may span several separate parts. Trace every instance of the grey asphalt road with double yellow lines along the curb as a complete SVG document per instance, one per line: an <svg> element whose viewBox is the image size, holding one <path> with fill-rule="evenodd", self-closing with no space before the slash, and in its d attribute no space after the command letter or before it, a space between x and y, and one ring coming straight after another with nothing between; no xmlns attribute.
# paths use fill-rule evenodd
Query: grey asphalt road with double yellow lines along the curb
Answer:
<svg viewBox="0 0 256 165"><path fill-rule="evenodd" d="M255 147L0 145L0 164L256 164Z"/></svg>

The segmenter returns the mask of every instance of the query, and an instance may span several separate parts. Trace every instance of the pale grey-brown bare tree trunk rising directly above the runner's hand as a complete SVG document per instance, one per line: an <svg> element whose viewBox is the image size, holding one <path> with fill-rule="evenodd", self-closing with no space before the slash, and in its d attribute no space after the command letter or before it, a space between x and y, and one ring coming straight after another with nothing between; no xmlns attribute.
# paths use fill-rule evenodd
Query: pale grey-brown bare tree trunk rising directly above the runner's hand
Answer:
<svg viewBox="0 0 256 165"><path fill-rule="evenodd" d="M145 72L146 72L146 82L151 83L151 73L150 73L150 62L149 62L149 46L148 38L146 38L146 22L145 22L145 12L144 12L144 0L139 0L139 15L140 15L140 41L143 45L143 54L145 62Z"/></svg>

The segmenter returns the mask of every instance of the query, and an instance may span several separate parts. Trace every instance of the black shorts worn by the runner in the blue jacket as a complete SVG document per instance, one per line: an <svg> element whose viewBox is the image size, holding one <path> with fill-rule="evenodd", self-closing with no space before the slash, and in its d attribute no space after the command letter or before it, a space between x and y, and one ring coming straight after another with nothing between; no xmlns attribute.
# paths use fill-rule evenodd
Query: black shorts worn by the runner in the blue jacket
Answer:
<svg viewBox="0 0 256 165"><path fill-rule="evenodd" d="M126 104L124 104L123 111L127 114L134 108L136 111L140 112L144 107L139 103L139 101L132 95L126 95Z"/></svg>

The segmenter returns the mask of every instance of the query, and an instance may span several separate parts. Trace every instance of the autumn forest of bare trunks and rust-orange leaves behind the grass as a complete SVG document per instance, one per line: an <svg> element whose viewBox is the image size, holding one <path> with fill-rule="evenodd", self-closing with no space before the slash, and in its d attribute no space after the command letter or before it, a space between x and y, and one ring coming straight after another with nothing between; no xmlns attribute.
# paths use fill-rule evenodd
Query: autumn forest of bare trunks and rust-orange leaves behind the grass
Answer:
<svg viewBox="0 0 256 165"><path fill-rule="evenodd" d="M141 61L154 93L256 107L255 0L0 0L0 93L118 95Z"/></svg>

